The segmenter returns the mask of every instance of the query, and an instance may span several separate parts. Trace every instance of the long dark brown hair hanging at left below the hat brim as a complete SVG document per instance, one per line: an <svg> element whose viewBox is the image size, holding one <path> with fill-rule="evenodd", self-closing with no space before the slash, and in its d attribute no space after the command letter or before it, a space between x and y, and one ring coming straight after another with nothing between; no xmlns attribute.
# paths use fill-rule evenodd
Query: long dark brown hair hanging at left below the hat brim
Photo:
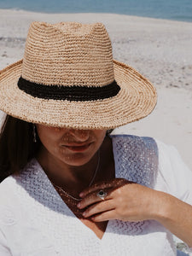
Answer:
<svg viewBox="0 0 192 256"><path fill-rule="evenodd" d="M7 115L0 133L0 183L26 166L40 144L38 136L33 142L32 123Z"/></svg>

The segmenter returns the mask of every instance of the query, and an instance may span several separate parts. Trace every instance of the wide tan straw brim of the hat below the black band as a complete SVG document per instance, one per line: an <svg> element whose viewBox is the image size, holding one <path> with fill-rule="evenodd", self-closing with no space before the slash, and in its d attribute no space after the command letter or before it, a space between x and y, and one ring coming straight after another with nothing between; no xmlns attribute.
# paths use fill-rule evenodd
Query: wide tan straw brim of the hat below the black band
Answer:
<svg viewBox="0 0 192 256"><path fill-rule="evenodd" d="M90 102L47 100L30 96L17 86L22 60L0 72L0 109L18 119L74 129L112 129L142 119L154 109L156 90L143 76L113 61L117 96Z"/></svg>

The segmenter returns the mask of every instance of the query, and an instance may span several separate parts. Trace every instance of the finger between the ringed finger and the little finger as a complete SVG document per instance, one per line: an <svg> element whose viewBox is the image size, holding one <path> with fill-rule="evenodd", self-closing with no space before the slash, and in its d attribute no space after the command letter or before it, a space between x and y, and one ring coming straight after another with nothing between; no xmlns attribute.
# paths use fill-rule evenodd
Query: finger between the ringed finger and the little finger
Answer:
<svg viewBox="0 0 192 256"><path fill-rule="evenodd" d="M101 212L107 212L113 209L114 209L113 200L110 199L108 201L101 201L87 208L86 211L83 212L83 216L84 218L89 218L92 215L95 215Z"/></svg>

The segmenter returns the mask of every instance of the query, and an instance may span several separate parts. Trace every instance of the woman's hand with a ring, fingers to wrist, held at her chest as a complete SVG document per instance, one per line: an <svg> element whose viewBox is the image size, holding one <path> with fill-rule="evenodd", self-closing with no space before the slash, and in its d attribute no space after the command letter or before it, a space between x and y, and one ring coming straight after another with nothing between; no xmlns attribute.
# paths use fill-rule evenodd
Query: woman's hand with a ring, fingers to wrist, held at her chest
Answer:
<svg viewBox="0 0 192 256"><path fill-rule="evenodd" d="M107 193L104 200L97 193ZM108 183L96 183L84 189L80 194L83 198L78 207L84 209L84 218L96 222L109 219L123 221L141 221L154 218L158 212L160 195L154 189L131 183L123 178L115 178Z"/></svg>

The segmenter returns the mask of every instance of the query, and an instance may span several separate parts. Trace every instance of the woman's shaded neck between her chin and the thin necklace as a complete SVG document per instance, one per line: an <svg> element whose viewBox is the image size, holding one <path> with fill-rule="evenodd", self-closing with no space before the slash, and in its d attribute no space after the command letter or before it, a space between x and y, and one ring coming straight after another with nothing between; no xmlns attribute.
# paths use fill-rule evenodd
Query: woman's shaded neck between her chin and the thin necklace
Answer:
<svg viewBox="0 0 192 256"><path fill-rule="evenodd" d="M110 174L105 172L108 172L108 166L113 166L112 150L111 139L106 137L99 151L84 166L67 166L63 161L50 155L45 148L39 150L37 160L52 183L78 196L80 191L90 185L94 176L93 183L110 178Z"/></svg>

